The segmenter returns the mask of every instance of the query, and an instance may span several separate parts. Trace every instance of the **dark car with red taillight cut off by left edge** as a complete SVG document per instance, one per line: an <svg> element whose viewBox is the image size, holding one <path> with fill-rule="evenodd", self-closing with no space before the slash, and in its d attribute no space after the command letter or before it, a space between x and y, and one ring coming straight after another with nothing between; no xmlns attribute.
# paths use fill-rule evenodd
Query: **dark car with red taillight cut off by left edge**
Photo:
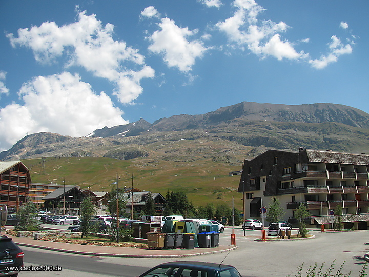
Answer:
<svg viewBox="0 0 369 277"><path fill-rule="evenodd" d="M0 276L17 276L19 270L14 270L23 266L24 253L11 238L0 235ZM6 267L15 267L12 271Z"/></svg>

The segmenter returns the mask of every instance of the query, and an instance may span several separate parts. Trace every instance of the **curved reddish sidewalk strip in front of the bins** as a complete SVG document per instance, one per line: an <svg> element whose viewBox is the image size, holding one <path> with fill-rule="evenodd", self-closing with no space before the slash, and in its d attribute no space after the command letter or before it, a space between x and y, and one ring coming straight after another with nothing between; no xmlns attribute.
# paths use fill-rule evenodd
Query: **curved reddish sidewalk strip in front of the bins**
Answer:
<svg viewBox="0 0 369 277"><path fill-rule="evenodd" d="M33 238L18 238L7 234L19 246L35 247L40 249L81 254L92 256L114 256L132 258L179 258L185 256L200 256L235 250L237 246L219 246L194 249L148 249L132 247L112 247L97 245L81 245L34 240Z"/></svg>

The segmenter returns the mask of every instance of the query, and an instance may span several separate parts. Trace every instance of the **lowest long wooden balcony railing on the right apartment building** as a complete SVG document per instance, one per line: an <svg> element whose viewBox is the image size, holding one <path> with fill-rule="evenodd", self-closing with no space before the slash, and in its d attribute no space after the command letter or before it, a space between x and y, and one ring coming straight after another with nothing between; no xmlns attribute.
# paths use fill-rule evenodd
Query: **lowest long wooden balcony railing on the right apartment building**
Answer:
<svg viewBox="0 0 369 277"><path fill-rule="evenodd" d="M300 206L300 203L306 207L306 209L320 209L320 208L328 208L334 209L338 205L341 205L342 208L348 207L367 207L369 206L369 200L341 200L341 201L305 201L305 202L288 202L287 209L297 209Z"/></svg>

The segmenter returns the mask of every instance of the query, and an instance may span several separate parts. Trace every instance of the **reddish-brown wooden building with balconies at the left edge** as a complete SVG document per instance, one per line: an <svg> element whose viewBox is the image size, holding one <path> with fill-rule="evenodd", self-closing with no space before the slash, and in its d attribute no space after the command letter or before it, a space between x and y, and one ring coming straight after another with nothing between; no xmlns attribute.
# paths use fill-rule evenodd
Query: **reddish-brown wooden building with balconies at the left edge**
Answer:
<svg viewBox="0 0 369 277"><path fill-rule="evenodd" d="M0 205L18 211L28 201L31 176L21 161L0 162Z"/></svg>

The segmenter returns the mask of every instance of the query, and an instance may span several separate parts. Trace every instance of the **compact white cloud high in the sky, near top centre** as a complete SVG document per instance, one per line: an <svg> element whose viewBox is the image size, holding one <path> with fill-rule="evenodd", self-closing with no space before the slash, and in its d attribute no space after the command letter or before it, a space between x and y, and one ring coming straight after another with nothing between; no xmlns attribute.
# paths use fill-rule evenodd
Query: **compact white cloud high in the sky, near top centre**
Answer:
<svg viewBox="0 0 369 277"><path fill-rule="evenodd" d="M155 31L149 37L152 42L149 50L156 54L163 54L163 59L169 67L177 67L183 72L190 71L196 58L202 57L207 51L201 41L188 40L197 33L197 30L180 28L169 18L162 18L158 25L161 30Z"/></svg>

